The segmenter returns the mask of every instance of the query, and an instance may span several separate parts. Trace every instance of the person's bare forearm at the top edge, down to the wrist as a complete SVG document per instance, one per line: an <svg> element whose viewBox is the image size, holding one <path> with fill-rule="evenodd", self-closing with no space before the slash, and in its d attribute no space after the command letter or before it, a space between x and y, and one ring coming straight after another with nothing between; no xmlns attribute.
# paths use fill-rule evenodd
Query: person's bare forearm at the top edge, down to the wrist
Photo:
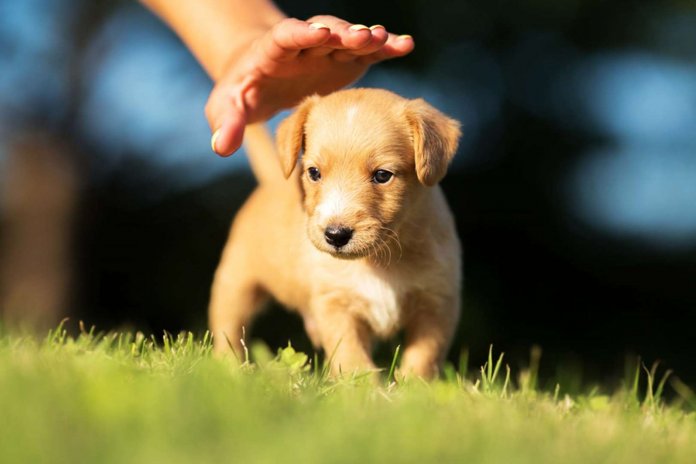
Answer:
<svg viewBox="0 0 696 464"><path fill-rule="evenodd" d="M285 17L270 0L141 0L184 41L213 80L230 57Z"/></svg>

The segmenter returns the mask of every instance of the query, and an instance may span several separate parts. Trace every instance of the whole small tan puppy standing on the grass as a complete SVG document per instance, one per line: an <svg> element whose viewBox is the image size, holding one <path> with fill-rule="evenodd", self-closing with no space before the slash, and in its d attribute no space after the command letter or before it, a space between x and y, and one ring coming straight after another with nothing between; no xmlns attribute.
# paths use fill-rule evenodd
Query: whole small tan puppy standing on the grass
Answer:
<svg viewBox="0 0 696 464"><path fill-rule="evenodd" d="M374 369L375 337L403 329L402 372L436 375L460 308L460 245L437 186L459 136L425 101L377 89L305 99L277 154L249 126L260 185L215 273L215 349L241 354L243 327L272 296L300 313L334 373Z"/></svg>

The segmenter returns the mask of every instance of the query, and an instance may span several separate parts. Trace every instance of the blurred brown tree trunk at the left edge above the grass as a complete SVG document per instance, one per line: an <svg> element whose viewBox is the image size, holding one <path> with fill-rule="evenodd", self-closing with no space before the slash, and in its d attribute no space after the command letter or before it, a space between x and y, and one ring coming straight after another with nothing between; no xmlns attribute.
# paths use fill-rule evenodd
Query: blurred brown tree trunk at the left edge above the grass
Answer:
<svg viewBox="0 0 696 464"><path fill-rule="evenodd" d="M21 134L0 192L0 308L11 327L45 331L68 312L77 172L65 141Z"/></svg>

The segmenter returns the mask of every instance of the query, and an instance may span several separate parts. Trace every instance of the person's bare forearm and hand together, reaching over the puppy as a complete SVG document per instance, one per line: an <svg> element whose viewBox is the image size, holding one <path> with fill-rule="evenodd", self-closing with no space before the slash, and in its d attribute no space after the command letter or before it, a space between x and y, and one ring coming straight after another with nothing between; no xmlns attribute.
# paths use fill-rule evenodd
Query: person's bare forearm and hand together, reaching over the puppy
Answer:
<svg viewBox="0 0 696 464"><path fill-rule="evenodd" d="M413 38L334 16L286 17L270 0L142 0L215 82L205 107L213 151L234 153L244 127L311 94L328 94L370 65L404 56Z"/></svg>

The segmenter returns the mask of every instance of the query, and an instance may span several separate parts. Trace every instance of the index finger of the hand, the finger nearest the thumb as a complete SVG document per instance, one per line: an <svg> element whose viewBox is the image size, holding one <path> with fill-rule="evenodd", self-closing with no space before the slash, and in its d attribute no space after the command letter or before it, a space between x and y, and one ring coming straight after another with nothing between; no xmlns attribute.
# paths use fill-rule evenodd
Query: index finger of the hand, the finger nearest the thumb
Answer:
<svg viewBox="0 0 696 464"><path fill-rule="evenodd" d="M263 41L266 55L277 61L289 60L306 48L318 47L328 41L331 30L321 22L307 23L287 18L273 26Z"/></svg>

